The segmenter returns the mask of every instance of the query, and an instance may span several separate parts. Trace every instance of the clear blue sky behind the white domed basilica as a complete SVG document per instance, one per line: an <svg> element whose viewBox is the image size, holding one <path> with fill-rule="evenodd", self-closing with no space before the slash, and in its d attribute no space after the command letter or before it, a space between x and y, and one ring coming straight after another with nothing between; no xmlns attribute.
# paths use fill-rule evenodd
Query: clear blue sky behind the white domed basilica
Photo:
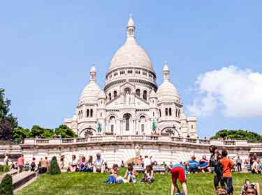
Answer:
<svg viewBox="0 0 262 195"><path fill-rule="evenodd" d="M0 88L5 88L12 100L11 111L20 125L57 127L64 117L73 116L93 63L97 82L103 87L108 64L124 43L132 13L136 39L150 54L158 84L163 61L168 61L187 114L192 110L199 113L201 137L224 128L262 134L260 100L246 115L238 116L240 111L235 110L239 105L249 106L248 101L254 102L254 96L262 93L258 90L261 81L256 79L258 92L251 89L252 98L244 97L247 101L241 102L240 94L250 89L242 80L249 81L250 72L261 77L261 7L261 1L2 1ZM215 74L221 78L231 70L230 65L237 70L226 77L233 87L225 90L229 93L224 94L225 80L212 84L218 93L202 87L210 81L200 75L217 70ZM244 79L230 79L235 75ZM233 102L241 104L230 108L232 100L226 97L235 95L230 92L234 87L238 95ZM203 103L205 97L216 102L208 114L201 110L209 105ZM189 108L192 104L196 109ZM230 116L227 111L235 114Z"/></svg>

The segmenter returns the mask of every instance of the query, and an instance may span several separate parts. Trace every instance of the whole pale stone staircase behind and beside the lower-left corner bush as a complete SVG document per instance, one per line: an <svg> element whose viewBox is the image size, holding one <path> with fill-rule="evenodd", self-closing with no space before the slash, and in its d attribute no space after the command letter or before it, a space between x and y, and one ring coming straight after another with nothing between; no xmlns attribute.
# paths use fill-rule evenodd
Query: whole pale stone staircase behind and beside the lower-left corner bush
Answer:
<svg viewBox="0 0 262 195"><path fill-rule="evenodd" d="M36 177L36 172L34 171L23 171L22 173L18 173L17 170L12 170L7 173L3 173L3 175L0 176L0 182L6 174L10 174L12 176L14 189L18 189Z"/></svg>

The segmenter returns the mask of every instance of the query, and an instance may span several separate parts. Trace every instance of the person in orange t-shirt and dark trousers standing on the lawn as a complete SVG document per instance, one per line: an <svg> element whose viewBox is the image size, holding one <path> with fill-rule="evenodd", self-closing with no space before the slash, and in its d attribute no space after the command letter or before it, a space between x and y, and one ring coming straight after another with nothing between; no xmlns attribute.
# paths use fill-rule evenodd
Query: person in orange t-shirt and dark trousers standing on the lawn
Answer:
<svg viewBox="0 0 262 195"><path fill-rule="evenodd" d="M227 157L228 152L226 150L222 151L222 158L220 159L220 164L223 169L223 180L226 182L226 192L229 195L233 194L233 179L232 179L232 173L231 168L235 166L235 163Z"/></svg>

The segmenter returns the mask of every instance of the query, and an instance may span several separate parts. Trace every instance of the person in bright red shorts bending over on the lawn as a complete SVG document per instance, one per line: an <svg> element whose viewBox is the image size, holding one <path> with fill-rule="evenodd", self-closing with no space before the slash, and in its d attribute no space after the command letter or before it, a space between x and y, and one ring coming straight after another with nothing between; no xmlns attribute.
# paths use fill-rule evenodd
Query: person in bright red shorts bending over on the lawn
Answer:
<svg viewBox="0 0 262 195"><path fill-rule="evenodd" d="M181 186L184 191L184 195L188 195L187 193L187 170L184 168L182 164L174 164L172 166L172 169L170 171L171 176L172 176L172 185L171 185L171 195L174 194L175 189L177 189L177 193L180 193L180 189L177 185L177 179L180 180Z"/></svg>

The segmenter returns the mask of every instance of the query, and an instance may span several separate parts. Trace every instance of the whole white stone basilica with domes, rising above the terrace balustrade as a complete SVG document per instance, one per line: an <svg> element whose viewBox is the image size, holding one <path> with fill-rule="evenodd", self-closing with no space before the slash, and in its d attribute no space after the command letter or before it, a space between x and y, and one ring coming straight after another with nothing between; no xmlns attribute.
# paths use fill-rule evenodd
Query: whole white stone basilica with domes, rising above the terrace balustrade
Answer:
<svg viewBox="0 0 262 195"><path fill-rule="evenodd" d="M112 56L104 88L96 84L96 69L92 67L75 115L65 118L64 124L80 137L149 135L154 123L159 134L196 138L196 116L185 116L179 93L170 82L167 63L163 83L158 87L150 56L136 42L132 17L126 29L126 42Z"/></svg>

